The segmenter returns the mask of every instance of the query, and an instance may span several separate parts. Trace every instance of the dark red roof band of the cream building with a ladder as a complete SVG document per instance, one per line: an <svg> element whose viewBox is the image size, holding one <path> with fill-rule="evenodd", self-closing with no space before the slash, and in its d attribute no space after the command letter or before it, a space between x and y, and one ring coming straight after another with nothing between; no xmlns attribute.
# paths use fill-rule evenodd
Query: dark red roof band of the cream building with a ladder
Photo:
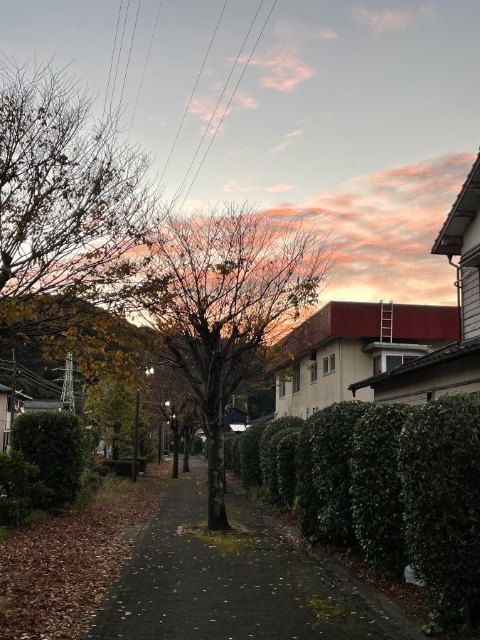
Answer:
<svg viewBox="0 0 480 640"><path fill-rule="evenodd" d="M378 340L381 309L380 302L329 302L274 346L282 359L270 370L282 368L334 338ZM457 307L393 304L394 342L428 344L434 340L455 341L458 338Z"/></svg>

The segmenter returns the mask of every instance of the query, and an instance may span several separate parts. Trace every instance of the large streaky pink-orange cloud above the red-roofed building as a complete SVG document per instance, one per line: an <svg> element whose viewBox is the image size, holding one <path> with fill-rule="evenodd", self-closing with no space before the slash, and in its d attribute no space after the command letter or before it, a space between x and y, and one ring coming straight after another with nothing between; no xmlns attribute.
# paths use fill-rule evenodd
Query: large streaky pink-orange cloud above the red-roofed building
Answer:
<svg viewBox="0 0 480 640"><path fill-rule="evenodd" d="M454 304L455 272L430 249L475 157L449 154L358 176L266 215L279 228L302 222L331 235L338 270L326 299Z"/></svg>

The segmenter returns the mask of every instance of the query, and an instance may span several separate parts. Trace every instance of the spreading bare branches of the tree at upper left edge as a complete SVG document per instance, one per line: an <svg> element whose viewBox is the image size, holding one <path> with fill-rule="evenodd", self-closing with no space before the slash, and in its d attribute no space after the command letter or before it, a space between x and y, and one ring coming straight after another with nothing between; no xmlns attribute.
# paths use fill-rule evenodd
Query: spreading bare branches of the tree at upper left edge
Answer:
<svg viewBox="0 0 480 640"><path fill-rule="evenodd" d="M118 136L119 113L96 122L64 71L0 64L0 338L61 331L85 298L129 299L160 194Z"/></svg>

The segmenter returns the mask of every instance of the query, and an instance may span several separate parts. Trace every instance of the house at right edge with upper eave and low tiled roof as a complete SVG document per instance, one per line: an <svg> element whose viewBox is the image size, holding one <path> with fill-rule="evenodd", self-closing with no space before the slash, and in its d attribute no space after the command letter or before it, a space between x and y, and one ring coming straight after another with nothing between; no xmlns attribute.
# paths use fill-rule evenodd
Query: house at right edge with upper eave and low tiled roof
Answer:
<svg viewBox="0 0 480 640"><path fill-rule="evenodd" d="M432 247L457 269L460 340L391 371L358 378L355 395L371 388L375 402L412 405L447 393L480 391L480 154ZM459 260L453 262L454 257Z"/></svg>

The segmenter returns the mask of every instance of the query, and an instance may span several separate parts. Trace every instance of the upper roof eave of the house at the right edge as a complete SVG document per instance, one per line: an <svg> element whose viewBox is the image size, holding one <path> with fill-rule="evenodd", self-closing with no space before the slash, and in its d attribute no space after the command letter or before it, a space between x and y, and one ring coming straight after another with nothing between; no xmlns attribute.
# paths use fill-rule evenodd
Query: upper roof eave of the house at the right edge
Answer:
<svg viewBox="0 0 480 640"><path fill-rule="evenodd" d="M461 255L463 236L466 228L476 218L480 207L480 153L471 166L469 175L450 210L447 220L432 247L432 253L439 255Z"/></svg>

